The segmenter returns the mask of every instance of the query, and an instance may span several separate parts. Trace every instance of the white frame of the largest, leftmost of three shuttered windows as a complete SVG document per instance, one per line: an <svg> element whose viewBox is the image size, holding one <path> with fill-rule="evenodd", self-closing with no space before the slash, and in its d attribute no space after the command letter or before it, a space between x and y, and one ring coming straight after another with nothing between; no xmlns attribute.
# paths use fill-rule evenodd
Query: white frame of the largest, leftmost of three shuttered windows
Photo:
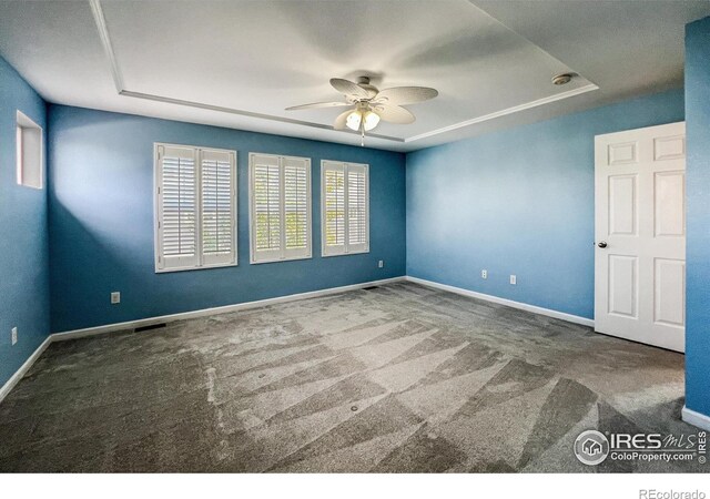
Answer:
<svg viewBox="0 0 710 499"><path fill-rule="evenodd" d="M161 147L178 147L178 149L186 149L194 151L195 159L195 196L196 196L196 207L195 207L195 220L197 227L197 235L195 240L195 257L193 257L192 262L186 263L181 266L171 266L165 267L165 262L163 257L162 249L162 220L163 220L163 206L162 206L162 163L160 150ZM210 256L214 255L205 255L203 253L202 247L202 159L204 155L210 155L212 153L217 154L229 154L230 156L230 167L232 169L231 176L231 192L232 192L232 234L234 245L234 252L230 255L230 258L226 262L210 262ZM153 173L154 173L154 189L153 189L153 203L154 203L154 254L155 254L155 273L163 274L170 272L184 272L184 271L196 271L202 268L219 268L219 267L234 267L239 265L239 224L237 224L237 154L236 151L226 150L226 149L216 149L216 147L202 147L196 145L183 145L183 144L170 144L164 142L155 142L153 143Z"/></svg>

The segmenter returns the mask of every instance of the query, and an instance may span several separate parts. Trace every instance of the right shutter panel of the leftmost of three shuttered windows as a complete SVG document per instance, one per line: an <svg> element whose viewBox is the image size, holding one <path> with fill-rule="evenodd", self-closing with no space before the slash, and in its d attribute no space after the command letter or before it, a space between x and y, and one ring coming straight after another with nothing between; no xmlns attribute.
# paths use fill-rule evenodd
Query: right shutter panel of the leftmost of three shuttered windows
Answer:
<svg viewBox="0 0 710 499"><path fill-rule="evenodd" d="M202 150L202 264L236 261L235 154Z"/></svg>

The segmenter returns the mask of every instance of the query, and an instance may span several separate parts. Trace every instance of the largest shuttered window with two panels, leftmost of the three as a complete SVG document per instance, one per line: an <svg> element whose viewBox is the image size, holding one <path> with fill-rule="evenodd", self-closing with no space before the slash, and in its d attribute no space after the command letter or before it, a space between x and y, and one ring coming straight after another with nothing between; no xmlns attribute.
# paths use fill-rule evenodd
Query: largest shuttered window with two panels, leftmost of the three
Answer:
<svg viewBox="0 0 710 499"><path fill-rule="evenodd" d="M236 265L236 152L155 144L155 272Z"/></svg>

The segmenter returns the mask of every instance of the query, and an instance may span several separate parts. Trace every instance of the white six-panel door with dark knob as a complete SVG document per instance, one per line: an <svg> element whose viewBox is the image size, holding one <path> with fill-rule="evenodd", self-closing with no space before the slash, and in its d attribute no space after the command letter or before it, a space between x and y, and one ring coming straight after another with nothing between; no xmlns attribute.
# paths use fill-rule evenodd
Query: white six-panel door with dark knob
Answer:
<svg viewBox="0 0 710 499"><path fill-rule="evenodd" d="M684 352L686 124L595 139L595 328Z"/></svg>

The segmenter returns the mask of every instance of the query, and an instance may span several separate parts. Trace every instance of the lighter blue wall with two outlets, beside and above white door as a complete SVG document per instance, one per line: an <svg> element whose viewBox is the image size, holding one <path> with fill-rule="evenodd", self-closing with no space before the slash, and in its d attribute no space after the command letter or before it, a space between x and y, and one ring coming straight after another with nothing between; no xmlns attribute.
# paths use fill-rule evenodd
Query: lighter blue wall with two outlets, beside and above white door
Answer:
<svg viewBox="0 0 710 499"><path fill-rule="evenodd" d="M592 318L594 138L682 120L676 90L407 154L407 275Z"/></svg>

